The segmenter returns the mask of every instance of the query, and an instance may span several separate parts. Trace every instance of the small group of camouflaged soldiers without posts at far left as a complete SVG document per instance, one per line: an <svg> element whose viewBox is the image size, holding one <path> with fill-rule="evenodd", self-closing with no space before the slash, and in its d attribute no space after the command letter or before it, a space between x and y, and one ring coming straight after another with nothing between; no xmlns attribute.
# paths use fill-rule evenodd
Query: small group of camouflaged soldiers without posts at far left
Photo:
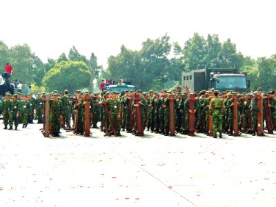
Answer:
<svg viewBox="0 0 276 207"><path fill-rule="evenodd" d="M1 111L3 114L4 129L17 130L19 124L23 124L23 128L26 128L28 124L33 124L34 111L36 111L36 119L39 124L42 124L42 110L43 99L38 94L37 99L32 97L32 92L28 95L22 95L21 92L11 95L10 92L6 92L5 97L2 99Z"/></svg>

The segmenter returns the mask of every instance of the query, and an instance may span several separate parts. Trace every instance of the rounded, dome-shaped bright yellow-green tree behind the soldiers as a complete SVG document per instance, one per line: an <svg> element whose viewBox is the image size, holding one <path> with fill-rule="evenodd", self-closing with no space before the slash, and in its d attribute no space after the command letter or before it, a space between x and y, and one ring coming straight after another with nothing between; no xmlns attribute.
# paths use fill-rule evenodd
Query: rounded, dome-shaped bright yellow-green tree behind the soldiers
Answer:
<svg viewBox="0 0 276 207"><path fill-rule="evenodd" d="M72 92L87 88L91 78L91 72L83 61L61 61L46 73L42 84L48 91L68 89Z"/></svg>

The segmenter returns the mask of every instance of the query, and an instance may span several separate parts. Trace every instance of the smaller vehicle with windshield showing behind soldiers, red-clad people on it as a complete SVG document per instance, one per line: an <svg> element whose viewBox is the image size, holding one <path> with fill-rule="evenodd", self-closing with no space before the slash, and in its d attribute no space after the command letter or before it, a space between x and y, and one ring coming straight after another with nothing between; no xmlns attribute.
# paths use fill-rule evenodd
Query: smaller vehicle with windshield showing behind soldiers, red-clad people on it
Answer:
<svg viewBox="0 0 276 207"><path fill-rule="evenodd" d="M123 79L124 84L117 84L121 79L109 79L111 85L103 87L102 90L108 90L108 92L121 92L123 90L134 90L135 86L132 85L132 79Z"/></svg>

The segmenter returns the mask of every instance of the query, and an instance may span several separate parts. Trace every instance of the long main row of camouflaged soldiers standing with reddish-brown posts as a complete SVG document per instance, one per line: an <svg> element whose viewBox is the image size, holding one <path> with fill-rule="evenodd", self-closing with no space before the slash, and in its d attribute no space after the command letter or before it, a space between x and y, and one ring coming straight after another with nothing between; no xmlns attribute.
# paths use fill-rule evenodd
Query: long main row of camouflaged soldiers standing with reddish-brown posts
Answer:
<svg viewBox="0 0 276 207"><path fill-rule="evenodd" d="M57 95L56 92L55 95ZM86 95L90 97L88 101L84 99ZM257 112L261 110L257 106L256 99L260 95L264 106L267 105L270 108L274 127L276 124L275 91L265 93L262 92L262 88L258 88L256 92L250 94L238 94L231 91L219 94L219 91L214 90L202 90L199 95L194 92L181 93L177 90L162 90L160 93L152 90L147 93L142 93L141 90L137 90L137 92L126 90L120 94L118 92L110 94L108 91L103 91L101 95L92 95L88 91L85 93L76 91L75 95L69 97L67 94L61 93L57 99L61 102L62 112L55 114L60 114L63 117L59 119L59 124L56 125L60 126L63 123L63 127L66 124L70 128L72 117L75 131L78 135L83 135L85 105L88 104L90 126L97 128L97 122L101 121L101 130L107 135L120 136L121 130L138 135L139 121L141 121L140 127L143 132L146 129L150 132L170 135L170 122L174 121L175 131L181 134L188 135L191 127L193 127L196 132L204 132L208 135L211 124L213 125L214 137L217 136L217 131L221 137L223 132L233 135L233 119L235 117L233 106L234 100L237 99L236 117L239 133L247 132L255 135ZM173 108L170 108L170 99L173 99ZM193 108L190 108L191 106ZM264 108L262 107L262 110ZM171 119L171 113L174 116L173 119ZM263 112L262 114L264 121L266 120L266 113ZM210 116L212 117L211 120ZM190 125L191 121L189 121L190 117L193 117L192 126ZM263 126L265 125L263 124Z"/></svg>

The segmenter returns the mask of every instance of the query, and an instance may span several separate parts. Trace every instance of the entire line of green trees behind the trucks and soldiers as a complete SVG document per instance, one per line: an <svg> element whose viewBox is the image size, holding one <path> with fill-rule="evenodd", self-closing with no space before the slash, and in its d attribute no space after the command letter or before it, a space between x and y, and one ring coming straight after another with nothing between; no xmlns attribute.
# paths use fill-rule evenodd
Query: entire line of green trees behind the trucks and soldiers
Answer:
<svg viewBox="0 0 276 207"><path fill-rule="evenodd" d="M93 90L94 79L108 78L133 79L133 84L142 90L161 90L179 85L181 72L205 67L235 67L247 72L252 90L276 88L276 54L257 59L244 56L230 39L219 41L218 34L208 34L205 39L195 33L182 44L170 43L170 37L165 34L157 39L146 39L140 50L122 45L119 54L111 55L107 61L107 68L103 68L93 52L88 59L72 46L68 57L63 52L58 59L48 58L43 63L26 43L8 48L0 41L1 68L11 63L13 79L19 78L23 83L43 86L49 91Z"/></svg>

